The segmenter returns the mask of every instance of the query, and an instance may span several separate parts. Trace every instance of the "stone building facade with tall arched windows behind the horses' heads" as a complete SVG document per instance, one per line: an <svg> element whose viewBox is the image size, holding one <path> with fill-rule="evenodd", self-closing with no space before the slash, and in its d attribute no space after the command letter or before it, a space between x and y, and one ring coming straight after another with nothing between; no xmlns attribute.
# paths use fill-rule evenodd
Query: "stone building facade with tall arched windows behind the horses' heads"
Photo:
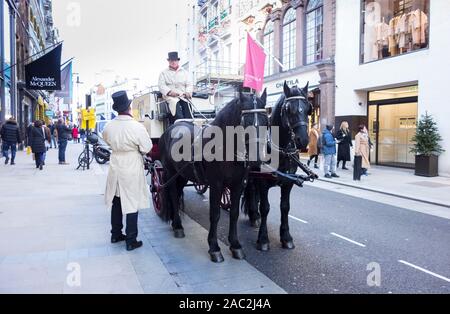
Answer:
<svg viewBox="0 0 450 314"><path fill-rule="evenodd" d="M265 87L274 103L290 86L309 83L314 105L312 122L322 125L335 119L335 0L261 1L259 16L244 19L268 54ZM283 65L280 66L279 62Z"/></svg>

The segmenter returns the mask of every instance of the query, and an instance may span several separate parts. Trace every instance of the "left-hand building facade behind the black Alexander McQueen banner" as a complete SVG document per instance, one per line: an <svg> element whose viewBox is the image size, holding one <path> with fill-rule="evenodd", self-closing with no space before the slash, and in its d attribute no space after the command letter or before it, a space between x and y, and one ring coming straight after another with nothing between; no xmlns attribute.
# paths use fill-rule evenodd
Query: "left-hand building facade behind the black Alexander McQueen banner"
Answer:
<svg viewBox="0 0 450 314"><path fill-rule="evenodd" d="M25 64L57 42L51 0L3 0L0 23L0 123L13 116L25 135L29 123L52 109L49 93L25 87Z"/></svg>

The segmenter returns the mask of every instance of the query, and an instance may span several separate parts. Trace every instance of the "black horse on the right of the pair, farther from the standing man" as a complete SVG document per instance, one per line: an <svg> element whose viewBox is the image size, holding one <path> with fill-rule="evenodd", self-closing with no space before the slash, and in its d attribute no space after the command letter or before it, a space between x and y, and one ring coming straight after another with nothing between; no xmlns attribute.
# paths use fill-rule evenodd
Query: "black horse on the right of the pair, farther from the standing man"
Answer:
<svg viewBox="0 0 450 314"><path fill-rule="evenodd" d="M312 105L308 102L308 85L304 89L289 88L284 84L284 95L275 105L270 118L271 128L279 128L279 145L269 143L272 150L279 153L280 173L295 175L298 170L298 151L305 149L309 144L308 126L312 114ZM272 154L274 152L272 151ZM312 173L312 172L311 172ZM284 249L294 249L294 242L289 232L290 194L294 181L283 177L250 178L244 192L243 208L250 218L252 226L261 225L258 235L257 249L268 251L270 249L267 234L267 216L270 211L269 189L274 186L281 188L281 244ZM259 205L259 212L258 212Z"/></svg>

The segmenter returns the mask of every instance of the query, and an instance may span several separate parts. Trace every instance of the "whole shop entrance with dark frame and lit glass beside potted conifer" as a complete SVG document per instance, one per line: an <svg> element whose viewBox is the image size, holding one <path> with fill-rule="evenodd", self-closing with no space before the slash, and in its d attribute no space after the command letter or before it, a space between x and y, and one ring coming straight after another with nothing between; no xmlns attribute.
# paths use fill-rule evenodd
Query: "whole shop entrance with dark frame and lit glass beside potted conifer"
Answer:
<svg viewBox="0 0 450 314"><path fill-rule="evenodd" d="M386 92L383 91L385 95ZM416 133L417 116L417 96L371 101L369 132L374 141L372 161L378 165L414 168L415 156L410 149Z"/></svg>

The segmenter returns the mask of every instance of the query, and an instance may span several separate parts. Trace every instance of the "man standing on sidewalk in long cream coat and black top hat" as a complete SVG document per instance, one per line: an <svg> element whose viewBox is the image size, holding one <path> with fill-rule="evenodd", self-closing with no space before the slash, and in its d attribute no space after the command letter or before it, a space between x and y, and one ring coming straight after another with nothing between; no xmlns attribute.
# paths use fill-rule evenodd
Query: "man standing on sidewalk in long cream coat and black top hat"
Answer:
<svg viewBox="0 0 450 314"><path fill-rule="evenodd" d="M139 210L150 207L142 155L151 151L152 142L145 127L133 119L126 92L117 92L112 98L119 116L103 131L103 139L112 149L105 201L111 208L111 242L126 241L126 249L132 251L142 246L137 240ZM123 215L126 235L122 233Z"/></svg>

